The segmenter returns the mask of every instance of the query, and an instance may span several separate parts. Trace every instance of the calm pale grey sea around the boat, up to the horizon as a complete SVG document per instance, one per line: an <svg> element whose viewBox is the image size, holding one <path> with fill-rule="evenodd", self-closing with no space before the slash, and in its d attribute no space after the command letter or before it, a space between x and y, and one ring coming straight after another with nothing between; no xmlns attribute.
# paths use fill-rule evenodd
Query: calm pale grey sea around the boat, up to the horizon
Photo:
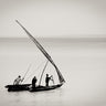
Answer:
<svg viewBox="0 0 106 106"><path fill-rule="evenodd" d="M18 75L24 83L40 75L46 59L29 38L0 39L0 106L106 106L105 38L36 38L60 68L65 83L46 92L8 92ZM54 76L49 63L45 73ZM44 76L42 78L44 84ZM51 83L52 84L52 83Z"/></svg>

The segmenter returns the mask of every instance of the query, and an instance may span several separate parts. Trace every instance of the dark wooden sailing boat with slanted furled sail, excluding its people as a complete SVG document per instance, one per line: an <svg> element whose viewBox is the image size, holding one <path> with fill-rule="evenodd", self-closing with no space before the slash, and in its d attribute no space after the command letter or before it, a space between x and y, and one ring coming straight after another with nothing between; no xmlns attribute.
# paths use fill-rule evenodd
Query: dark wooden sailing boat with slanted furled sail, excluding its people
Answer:
<svg viewBox="0 0 106 106"><path fill-rule="evenodd" d="M8 88L9 92L17 92L17 91L40 92L40 91L50 91L50 89L55 89L55 88L61 87L65 83L65 80L64 80L62 73L60 72L59 67L56 66L56 64L53 62L53 60L50 56L50 54L44 50L44 47L39 43L39 41L36 41L36 39L33 38L31 35L31 33L18 20L15 20L15 22L25 31L25 33L28 34L28 36L34 42L34 44L36 45L36 47L47 59L47 62L46 62L46 64L45 64L45 66L43 68L43 72L41 74L39 86L35 86L35 88L32 88L31 87L31 84L7 85L6 88ZM55 85L43 86L43 85L41 85L41 81L42 81L43 73L44 73L45 67L46 67L46 65L47 65L49 62L54 66L56 73L57 73L59 82L60 83L59 84L55 84Z"/></svg>

